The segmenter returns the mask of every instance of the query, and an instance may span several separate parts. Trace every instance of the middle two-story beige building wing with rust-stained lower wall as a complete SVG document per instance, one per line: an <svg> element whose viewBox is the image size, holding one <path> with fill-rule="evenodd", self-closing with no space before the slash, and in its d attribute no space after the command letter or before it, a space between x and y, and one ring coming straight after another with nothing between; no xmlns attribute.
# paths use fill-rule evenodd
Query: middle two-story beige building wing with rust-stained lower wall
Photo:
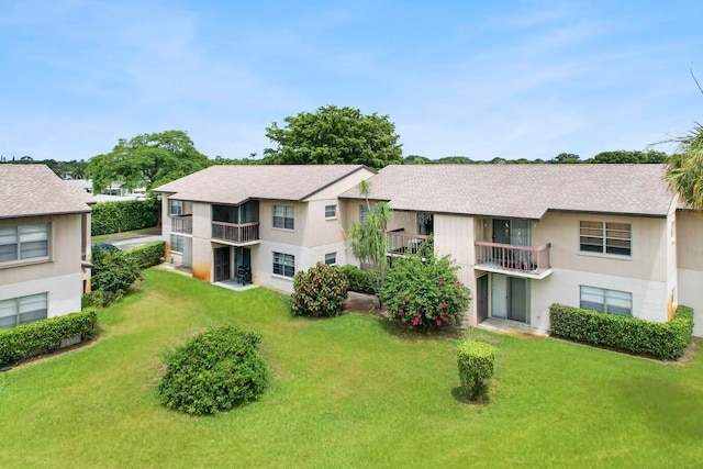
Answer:
<svg viewBox="0 0 703 469"><path fill-rule="evenodd" d="M157 189L172 264L219 282L248 272L292 291L295 271L347 264L337 196L369 178L362 165L212 166Z"/></svg>

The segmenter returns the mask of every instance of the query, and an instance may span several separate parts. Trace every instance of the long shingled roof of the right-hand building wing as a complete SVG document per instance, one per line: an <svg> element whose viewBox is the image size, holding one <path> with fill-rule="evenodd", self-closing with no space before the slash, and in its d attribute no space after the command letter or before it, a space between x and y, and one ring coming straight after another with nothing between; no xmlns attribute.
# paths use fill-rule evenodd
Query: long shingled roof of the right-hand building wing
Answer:
<svg viewBox="0 0 703 469"><path fill-rule="evenodd" d="M406 165L369 179L394 210L539 220L547 211L666 216L663 165ZM361 199L357 188L343 198Z"/></svg>

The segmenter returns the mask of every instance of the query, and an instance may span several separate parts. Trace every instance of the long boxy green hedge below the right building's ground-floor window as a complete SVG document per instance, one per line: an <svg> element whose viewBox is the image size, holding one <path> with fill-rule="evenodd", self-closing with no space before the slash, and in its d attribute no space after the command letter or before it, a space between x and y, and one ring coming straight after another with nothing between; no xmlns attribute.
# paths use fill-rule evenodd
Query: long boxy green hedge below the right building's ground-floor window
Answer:
<svg viewBox="0 0 703 469"><path fill-rule="evenodd" d="M603 314L562 304L553 304L549 317L555 336L662 360L679 358L693 333L693 310L682 305L668 323Z"/></svg>

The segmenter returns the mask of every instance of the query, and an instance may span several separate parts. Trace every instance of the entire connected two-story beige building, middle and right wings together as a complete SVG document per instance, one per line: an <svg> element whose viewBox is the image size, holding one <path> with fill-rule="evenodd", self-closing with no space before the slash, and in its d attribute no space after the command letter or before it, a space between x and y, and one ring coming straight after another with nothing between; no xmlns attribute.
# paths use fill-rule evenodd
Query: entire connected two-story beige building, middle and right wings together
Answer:
<svg viewBox="0 0 703 469"><path fill-rule="evenodd" d="M429 235L488 317L549 330L562 303L665 322L695 310L703 336L703 216L679 206L661 165L211 167L157 189L169 261L207 281L291 291L317 261L359 265L345 232L371 203L393 209L389 257Z"/></svg>

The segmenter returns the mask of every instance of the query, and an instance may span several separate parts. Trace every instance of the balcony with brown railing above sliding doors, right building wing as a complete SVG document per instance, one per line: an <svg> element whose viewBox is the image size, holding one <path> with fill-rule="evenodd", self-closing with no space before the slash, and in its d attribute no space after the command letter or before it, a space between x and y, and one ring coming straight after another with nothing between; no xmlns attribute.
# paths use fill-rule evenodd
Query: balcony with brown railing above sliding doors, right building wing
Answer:
<svg viewBox="0 0 703 469"><path fill-rule="evenodd" d="M488 272L505 273L542 280L551 273L549 250L551 244L520 246L514 244L477 241L475 268Z"/></svg>

